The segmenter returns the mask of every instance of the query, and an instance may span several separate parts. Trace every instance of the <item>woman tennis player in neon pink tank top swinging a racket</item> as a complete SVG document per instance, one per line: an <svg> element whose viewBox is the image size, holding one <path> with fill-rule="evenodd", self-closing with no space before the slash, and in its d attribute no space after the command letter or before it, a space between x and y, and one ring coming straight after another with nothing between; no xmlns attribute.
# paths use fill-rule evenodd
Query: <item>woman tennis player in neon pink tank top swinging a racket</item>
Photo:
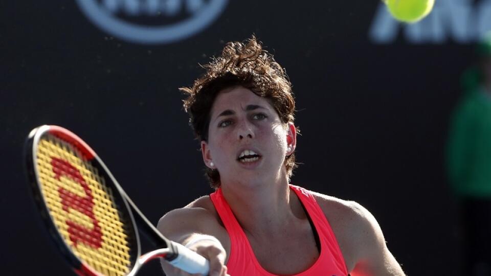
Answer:
<svg viewBox="0 0 491 276"><path fill-rule="evenodd" d="M289 183L292 86L256 38L227 43L204 67L181 89L215 192L167 213L159 230L209 259L210 275L404 275L363 206Z"/></svg>

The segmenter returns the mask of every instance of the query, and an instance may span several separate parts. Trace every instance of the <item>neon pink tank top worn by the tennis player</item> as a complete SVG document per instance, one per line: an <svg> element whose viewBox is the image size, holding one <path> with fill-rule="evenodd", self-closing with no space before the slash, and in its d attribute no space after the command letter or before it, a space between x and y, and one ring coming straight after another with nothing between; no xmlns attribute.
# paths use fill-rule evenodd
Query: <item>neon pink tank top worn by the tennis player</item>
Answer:
<svg viewBox="0 0 491 276"><path fill-rule="evenodd" d="M309 191L290 185L302 202L305 211L317 230L320 240L320 256L307 270L295 274L296 276L346 276L348 271L343 255L331 226L322 212L316 199ZM232 209L225 200L221 189L210 194L211 201L224 223L230 237L230 256L227 262L228 273L231 276L275 276L261 267L254 256L251 244L245 236L242 227L235 219Z"/></svg>

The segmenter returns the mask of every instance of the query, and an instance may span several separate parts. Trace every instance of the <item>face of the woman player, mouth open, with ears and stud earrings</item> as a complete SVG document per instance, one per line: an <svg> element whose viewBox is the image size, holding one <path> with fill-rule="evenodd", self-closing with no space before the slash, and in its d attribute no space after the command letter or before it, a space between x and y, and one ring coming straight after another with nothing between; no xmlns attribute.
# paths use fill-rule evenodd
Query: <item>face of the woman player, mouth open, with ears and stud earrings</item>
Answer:
<svg viewBox="0 0 491 276"><path fill-rule="evenodd" d="M295 143L293 123L283 124L266 99L235 86L220 91L213 103L202 153L205 164L220 173L221 185L259 183L286 176L284 159Z"/></svg>

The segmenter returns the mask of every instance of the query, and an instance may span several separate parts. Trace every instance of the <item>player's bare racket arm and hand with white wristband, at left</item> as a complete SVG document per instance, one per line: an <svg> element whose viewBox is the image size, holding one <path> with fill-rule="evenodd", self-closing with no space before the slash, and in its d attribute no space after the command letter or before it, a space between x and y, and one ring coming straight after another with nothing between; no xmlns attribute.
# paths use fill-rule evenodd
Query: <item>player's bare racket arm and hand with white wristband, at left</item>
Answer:
<svg viewBox="0 0 491 276"><path fill-rule="evenodd" d="M227 232L210 212L203 208L176 209L162 217L157 225L159 231L170 240L186 245L210 261L210 275L227 275L225 266L227 251ZM225 235L225 236L224 236ZM211 236L211 238L210 238ZM213 238L216 238L213 239ZM168 276L190 275L163 261L162 268Z"/></svg>

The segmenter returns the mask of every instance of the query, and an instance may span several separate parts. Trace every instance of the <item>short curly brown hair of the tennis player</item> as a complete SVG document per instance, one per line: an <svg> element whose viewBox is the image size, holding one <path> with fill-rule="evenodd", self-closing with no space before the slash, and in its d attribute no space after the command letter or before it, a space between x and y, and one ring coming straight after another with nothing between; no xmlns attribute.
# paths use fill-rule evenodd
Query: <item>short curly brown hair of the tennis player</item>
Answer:
<svg viewBox="0 0 491 276"><path fill-rule="evenodd" d="M257 96L269 100L284 124L294 121L292 84L284 69L273 55L262 49L255 36L244 42L228 42L221 55L203 68L205 74L196 79L192 87L179 88L187 95L184 108L199 141L208 141L213 102L218 93L228 87L243 86L250 89ZM284 164L288 177L291 177L293 169L297 167L295 153L286 156ZM205 172L211 187L220 187L218 171L206 168Z"/></svg>

